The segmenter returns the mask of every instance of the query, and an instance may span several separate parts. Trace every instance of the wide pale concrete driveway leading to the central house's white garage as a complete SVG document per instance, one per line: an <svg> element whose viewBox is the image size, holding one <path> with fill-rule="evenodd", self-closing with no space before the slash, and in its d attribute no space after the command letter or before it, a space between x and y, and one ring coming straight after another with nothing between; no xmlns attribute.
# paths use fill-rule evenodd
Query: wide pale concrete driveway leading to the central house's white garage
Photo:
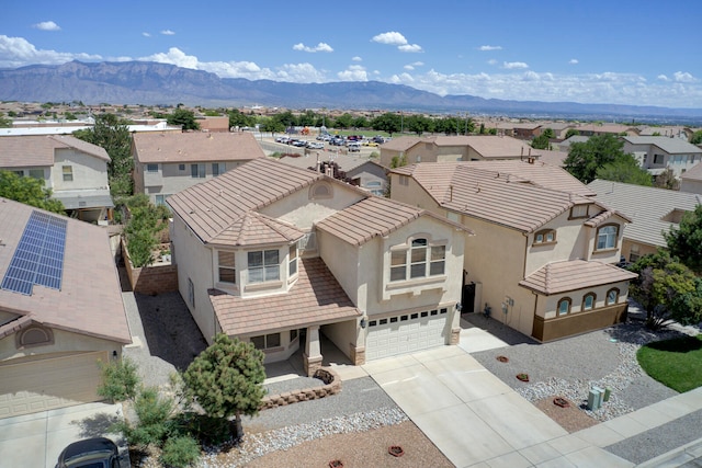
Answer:
<svg viewBox="0 0 702 468"><path fill-rule="evenodd" d="M458 346L363 368L457 467L632 466L569 435Z"/></svg>

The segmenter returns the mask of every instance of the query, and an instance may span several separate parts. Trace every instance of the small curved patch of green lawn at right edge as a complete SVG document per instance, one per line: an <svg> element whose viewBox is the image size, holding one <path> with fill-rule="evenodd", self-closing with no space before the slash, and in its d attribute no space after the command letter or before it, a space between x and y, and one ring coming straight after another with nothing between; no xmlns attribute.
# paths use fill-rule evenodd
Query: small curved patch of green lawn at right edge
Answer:
<svg viewBox="0 0 702 468"><path fill-rule="evenodd" d="M646 374L680 393L702 386L702 334L648 343L636 358Z"/></svg>

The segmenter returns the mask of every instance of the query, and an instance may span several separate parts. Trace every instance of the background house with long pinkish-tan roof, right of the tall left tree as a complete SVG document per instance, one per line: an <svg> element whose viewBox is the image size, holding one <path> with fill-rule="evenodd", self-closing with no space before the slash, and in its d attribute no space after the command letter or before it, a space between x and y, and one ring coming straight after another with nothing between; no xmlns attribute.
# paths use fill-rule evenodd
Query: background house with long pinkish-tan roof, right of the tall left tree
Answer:
<svg viewBox="0 0 702 468"><path fill-rule="evenodd" d="M135 134L134 193L145 193L155 205L264 153L249 133Z"/></svg>

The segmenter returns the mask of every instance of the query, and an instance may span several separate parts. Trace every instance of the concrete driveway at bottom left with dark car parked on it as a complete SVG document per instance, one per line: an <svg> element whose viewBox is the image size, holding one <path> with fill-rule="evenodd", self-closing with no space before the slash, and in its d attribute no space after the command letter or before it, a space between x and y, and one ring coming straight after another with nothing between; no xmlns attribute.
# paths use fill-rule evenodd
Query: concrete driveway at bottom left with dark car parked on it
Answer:
<svg viewBox="0 0 702 468"><path fill-rule="evenodd" d="M105 436L125 455L122 467L127 468L129 456L124 442L106 433L117 418L122 418L122 404L87 403L0 419L0 466L55 468L68 444Z"/></svg>

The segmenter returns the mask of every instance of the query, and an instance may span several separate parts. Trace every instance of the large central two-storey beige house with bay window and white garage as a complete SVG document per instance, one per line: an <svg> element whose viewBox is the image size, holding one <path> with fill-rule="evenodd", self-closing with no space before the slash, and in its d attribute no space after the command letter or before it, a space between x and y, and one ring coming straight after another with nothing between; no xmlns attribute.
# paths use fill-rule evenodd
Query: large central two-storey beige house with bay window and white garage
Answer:
<svg viewBox="0 0 702 468"><path fill-rule="evenodd" d="M457 224L270 158L168 204L180 292L208 342L225 332L267 362L304 346L309 374L320 334L356 365L457 343Z"/></svg>

